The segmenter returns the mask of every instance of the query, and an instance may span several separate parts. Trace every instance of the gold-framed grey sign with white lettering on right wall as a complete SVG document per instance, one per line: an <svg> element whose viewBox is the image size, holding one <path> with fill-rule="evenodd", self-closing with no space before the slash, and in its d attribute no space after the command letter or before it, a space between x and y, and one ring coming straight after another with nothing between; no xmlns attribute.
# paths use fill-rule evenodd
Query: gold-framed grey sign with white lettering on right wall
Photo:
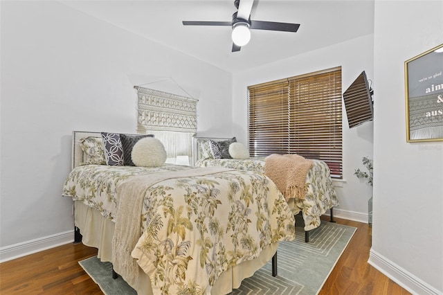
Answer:
<svg viewBox="0 0 443 295"><path fill-rule="evenodd" d="M404 62L406 141L443 141L443 44Z"/></svg>

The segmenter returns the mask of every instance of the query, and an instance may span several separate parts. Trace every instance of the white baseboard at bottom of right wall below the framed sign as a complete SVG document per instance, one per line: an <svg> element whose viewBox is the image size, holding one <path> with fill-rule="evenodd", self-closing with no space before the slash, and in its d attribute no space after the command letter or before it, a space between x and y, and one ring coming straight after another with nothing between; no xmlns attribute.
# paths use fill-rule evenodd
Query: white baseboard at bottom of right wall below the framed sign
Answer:
<svg viewBox="0 0 443 295"><path fill-rule="evenodd" d="M368 263L412 294L443 294L372 249L369 252Z"/></svg>

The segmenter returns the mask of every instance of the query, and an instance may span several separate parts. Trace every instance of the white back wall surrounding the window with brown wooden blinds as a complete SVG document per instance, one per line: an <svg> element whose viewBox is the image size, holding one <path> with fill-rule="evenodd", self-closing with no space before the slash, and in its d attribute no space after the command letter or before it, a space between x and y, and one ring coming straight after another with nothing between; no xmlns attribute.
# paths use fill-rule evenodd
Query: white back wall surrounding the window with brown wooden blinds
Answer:
<svg viewBox="0 0 443 295"><path fill-rule="evenodd" d="M248 85L278 80L303 73L341 66L343 91L357 76L365 71L372 80L374 100L377 103L377 81L373 78L373 35L365 35L327 48L296 55L281 62L258 66L251 71L233 75L233 135L237 141L247 140L247 92ZM372 188L354 176L356 168L363 168L362 157L372 158L372 127L368 122L349 128L343 107L343 187L336 188L340 205L336 216L368 222L368 199Z"/></svg>

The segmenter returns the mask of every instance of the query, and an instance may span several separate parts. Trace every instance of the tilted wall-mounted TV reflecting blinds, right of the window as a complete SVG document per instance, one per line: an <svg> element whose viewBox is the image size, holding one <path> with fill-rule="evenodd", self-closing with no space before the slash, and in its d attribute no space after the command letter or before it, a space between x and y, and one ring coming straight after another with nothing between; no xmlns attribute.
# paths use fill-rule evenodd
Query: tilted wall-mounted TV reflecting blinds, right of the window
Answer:
<svg viewBox="0 0 443 295"><path fill-rule="evenodd" d="M365 71L361 72L343 93L347 123L350 128L374 119L372 94L373 91L368 84Z"/></svg>

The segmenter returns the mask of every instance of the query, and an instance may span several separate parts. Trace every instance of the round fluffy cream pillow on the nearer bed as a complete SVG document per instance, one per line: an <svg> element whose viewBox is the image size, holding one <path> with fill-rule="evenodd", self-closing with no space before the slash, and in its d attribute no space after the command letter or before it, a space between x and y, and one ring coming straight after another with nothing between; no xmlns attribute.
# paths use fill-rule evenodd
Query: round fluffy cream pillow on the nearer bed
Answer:
<svg viewBox="0 0 443 295"><path fill-rule="evenodd" d="M159 167L165 163L167 154L159 139L145 137L132 147L131 158L138 167Z"/></svg>

